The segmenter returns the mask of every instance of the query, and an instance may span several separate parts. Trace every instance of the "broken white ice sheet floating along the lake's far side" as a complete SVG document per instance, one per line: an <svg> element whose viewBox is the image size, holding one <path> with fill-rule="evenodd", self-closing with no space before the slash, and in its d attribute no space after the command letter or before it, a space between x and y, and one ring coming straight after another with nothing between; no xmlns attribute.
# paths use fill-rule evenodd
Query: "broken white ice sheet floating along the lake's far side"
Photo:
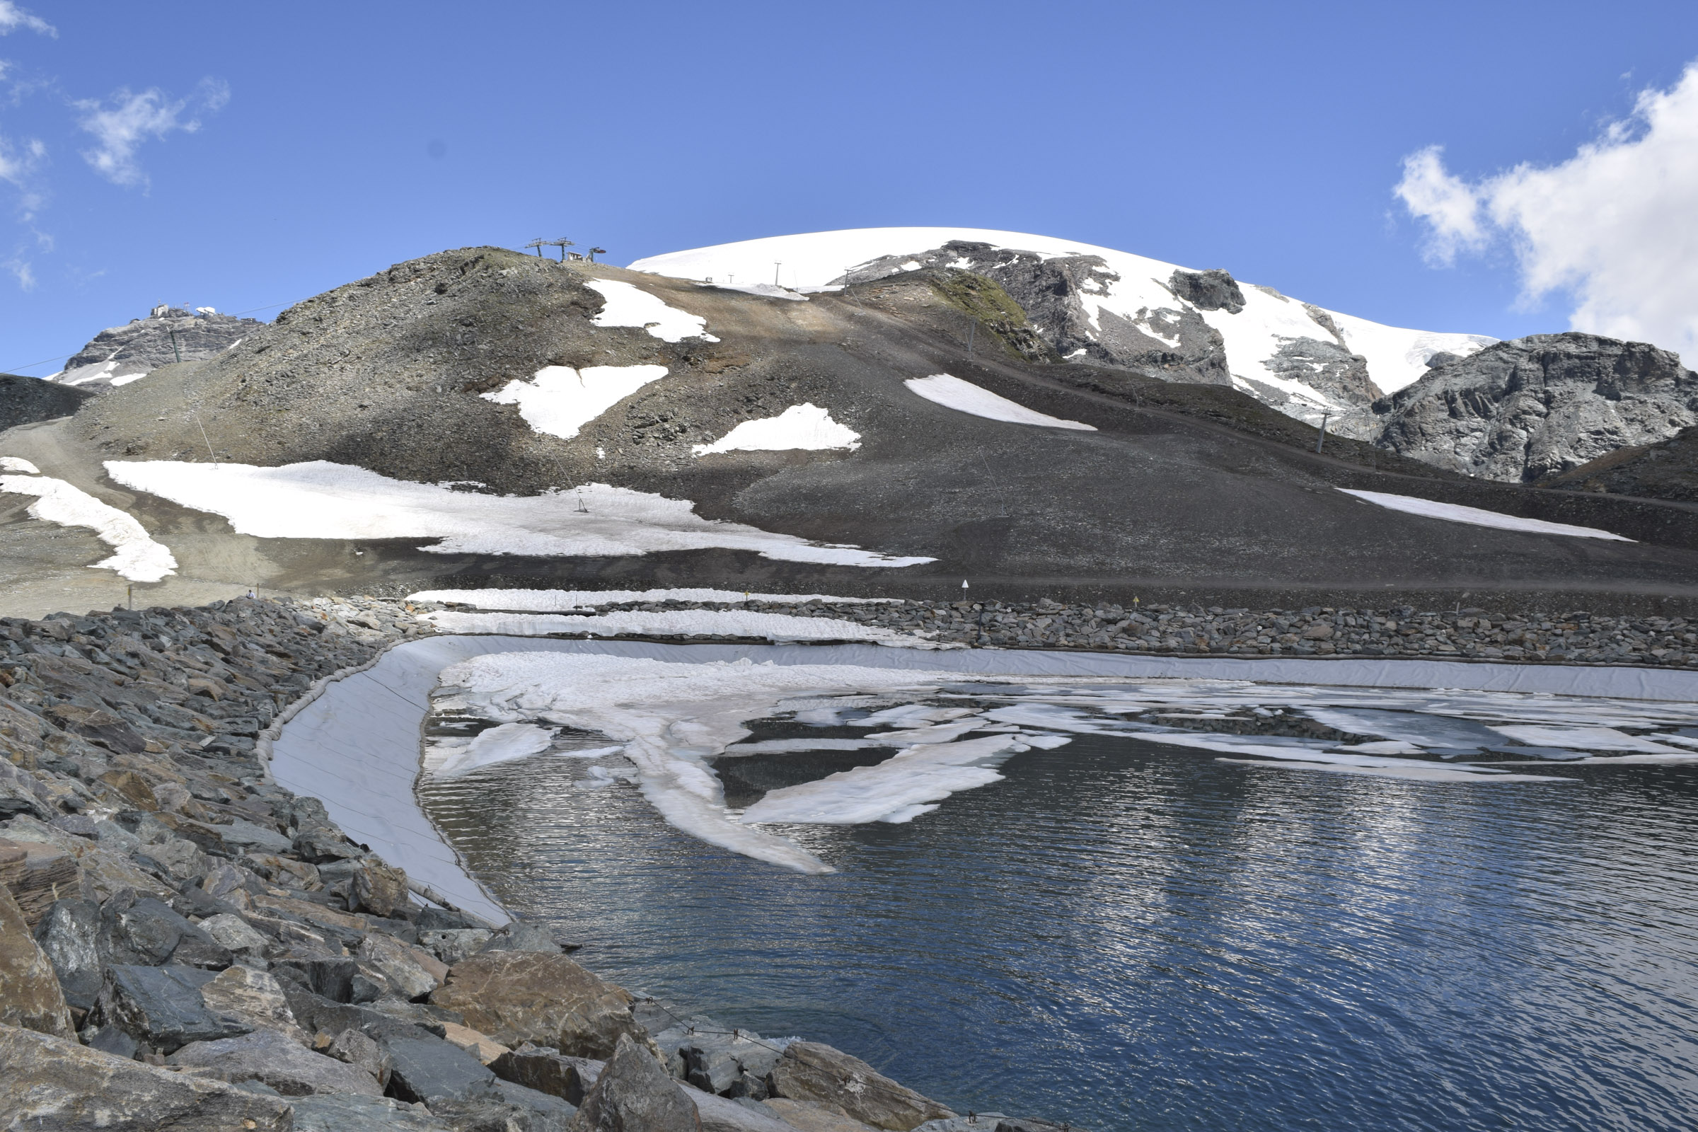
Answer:
<svg viewBox="0 0 1698 1132"><path fill-rule="evenodd" d="M1683 733L1698 725L1698 704L1681 701L1204 679L963 682L959 672L925 669L555 652L475 657L440 682L435 711L516 730L477 750L474 738L426 754L428 774L542 754L559 745L547 737L567 728L576 754L621 757L618 767L591 767L586 789L633 781L686 833L803 872L829 866L764 827L912 821L951 794L1004 781L1009 759L1077 735L1234 765L1523 789L1576 787L1577 779L1521 769L1550 759L1698 762L1698 730ZM837 733L807 733L818 728ZM720 760L818 752L874 752L874 760L771 789L742 810L727 804Z"/></svg>

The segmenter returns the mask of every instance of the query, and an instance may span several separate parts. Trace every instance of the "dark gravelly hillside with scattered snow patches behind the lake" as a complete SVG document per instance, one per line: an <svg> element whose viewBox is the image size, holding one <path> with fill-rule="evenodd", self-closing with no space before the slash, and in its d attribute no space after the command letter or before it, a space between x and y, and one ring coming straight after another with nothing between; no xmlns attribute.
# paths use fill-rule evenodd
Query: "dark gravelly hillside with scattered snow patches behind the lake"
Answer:
<svg viewBox="0 0 1698 1132"><path fill-rule="evenodd" d="M1279 302L1197 275L1175 283L1185 302L1221 304L1199 317L1236 305L1234 287L1245 314ZM15 428L0 455L168 548L177 574L148 582L155 601L479 579L910 597L970 579L1002 601L1223 608L1355 606L1367 591L1623 611L1698 597L1698 514L1482 482L1338 436L1318 453L1314 428L1233 385L1060 358L978 272L915 265L810 295L740 287L445 251L66 421ZM976 401L922 395L914 384L934 375ZM122 601L122 579L85 569L105 560L98 543L49 538L41 482L0 490L0 592ZM1345 490L1637 541L1443 521Z"/></svg>

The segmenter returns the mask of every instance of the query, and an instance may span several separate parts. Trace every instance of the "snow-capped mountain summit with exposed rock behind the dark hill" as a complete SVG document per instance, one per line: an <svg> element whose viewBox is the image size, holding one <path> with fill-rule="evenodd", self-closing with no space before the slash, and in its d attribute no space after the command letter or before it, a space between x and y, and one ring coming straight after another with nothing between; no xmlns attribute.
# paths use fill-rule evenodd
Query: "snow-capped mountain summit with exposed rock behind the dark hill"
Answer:
<svg viewBox="0 0 1698 1132"><path fill-rule="evenodd" d="M1240 285L1221 270L1077 241L978 227L863 227L745 239L630 265L732 287L807 294L920 268L997 280L1063 358L1229 384L1304 421L1369 434L1369 406L1493 338L1382 326ZM1355 423L1355 428L1352 428Z"/></svg>

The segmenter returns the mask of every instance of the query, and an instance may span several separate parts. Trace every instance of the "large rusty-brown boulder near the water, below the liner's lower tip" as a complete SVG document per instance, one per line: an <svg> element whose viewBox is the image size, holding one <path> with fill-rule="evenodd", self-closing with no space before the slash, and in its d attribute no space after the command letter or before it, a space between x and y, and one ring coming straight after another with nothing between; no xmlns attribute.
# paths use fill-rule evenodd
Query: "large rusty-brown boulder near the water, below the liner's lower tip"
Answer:
<svg viewBox="0 0 1698 1132"><path fill-rule="evenodd" d="M632 1017L632 996L565 955L472 955L448 971L448 981L430 1000L460 1012L465 1025L509 1047L535 1042L571 1057L608 1057L621 1035L647 1039Z"/></svg>

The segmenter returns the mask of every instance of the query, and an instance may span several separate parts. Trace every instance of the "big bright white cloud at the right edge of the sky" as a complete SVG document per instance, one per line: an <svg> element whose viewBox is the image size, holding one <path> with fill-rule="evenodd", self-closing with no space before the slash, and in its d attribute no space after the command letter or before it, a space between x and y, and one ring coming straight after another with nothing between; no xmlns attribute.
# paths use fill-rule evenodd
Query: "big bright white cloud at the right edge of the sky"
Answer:
<svg viewBox="0 0 1698 1132"><path fill-rule="evenodd" d="M1469 185L1428 148L1404 160L1396 195L1428 224L1431 261L1504 239L1528 300L1571 295L1572 329L1698 363L1698 63L1567 161Z"/></svg>

